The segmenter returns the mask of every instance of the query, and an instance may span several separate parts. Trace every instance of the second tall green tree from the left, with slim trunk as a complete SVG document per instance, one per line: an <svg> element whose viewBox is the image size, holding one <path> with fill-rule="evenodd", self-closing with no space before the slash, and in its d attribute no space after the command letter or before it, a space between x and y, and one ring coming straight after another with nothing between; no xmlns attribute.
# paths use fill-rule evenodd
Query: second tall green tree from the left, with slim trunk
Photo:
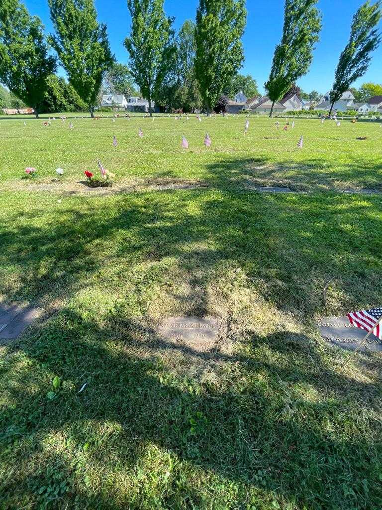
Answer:
<svg viewBox="0 0 382 510"><path fill-rule="evenodd" d="M93 0L48 0L50 17L57 35L50 37L69 83L93 107L103 75L114 63L106 25L98 23Z"/></svg>

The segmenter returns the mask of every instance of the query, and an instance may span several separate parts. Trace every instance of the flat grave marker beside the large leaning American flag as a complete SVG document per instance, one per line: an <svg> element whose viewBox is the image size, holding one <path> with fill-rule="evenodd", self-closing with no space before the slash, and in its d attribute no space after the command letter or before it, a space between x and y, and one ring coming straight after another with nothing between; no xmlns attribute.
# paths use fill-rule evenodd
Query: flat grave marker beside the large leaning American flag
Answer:
<svg viewBox="0 0 382 510"><path fill-rule="evenodd" d="M355 350L365 338L367 331L354 327L345 317L326 317L318 321L322 338L325 342L342 349ZM360 351L382 351L382 341L374 335L366 340Z"/></svg>

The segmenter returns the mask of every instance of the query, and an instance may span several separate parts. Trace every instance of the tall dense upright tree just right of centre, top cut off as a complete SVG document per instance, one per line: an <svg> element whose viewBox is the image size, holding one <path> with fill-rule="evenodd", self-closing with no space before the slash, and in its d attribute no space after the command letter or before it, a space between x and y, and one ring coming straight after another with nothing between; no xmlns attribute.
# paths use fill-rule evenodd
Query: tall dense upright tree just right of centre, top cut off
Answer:
<svg viewBox="0 0 382 510"><path fill-rule="evenodd" d="M241 37L246 18L244 0L199 0L195 68L207 113L244 60Z"/></svg>

